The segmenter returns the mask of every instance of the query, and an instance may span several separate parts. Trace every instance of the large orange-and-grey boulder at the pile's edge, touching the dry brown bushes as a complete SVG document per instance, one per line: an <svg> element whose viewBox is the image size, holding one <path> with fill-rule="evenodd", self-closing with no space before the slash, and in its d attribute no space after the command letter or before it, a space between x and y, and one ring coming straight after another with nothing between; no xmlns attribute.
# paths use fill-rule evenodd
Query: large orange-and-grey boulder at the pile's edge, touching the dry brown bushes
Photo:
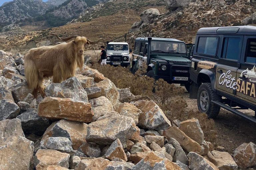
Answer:
<svg viewBox="0 0 256 170"><path fill-rule="evenodd" d="M166 130L171 127L170 121L166 118L159 106L151 101L139 100L134 104L142 111L139 115L139 126L151 130Z"/></svg>

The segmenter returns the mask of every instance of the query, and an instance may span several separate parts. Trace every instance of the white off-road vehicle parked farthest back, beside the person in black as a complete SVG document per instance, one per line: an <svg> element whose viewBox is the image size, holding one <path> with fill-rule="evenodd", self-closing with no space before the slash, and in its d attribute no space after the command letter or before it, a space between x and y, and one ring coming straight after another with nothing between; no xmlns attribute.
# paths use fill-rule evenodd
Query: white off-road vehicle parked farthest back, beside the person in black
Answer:
<svg viewBox="0 0 256 170"><path fill-rule="evenodd" d="M107 43L107 64L121 65L127 67L130 65L130 55L132 52L127 42L109 42Z"/></svg>

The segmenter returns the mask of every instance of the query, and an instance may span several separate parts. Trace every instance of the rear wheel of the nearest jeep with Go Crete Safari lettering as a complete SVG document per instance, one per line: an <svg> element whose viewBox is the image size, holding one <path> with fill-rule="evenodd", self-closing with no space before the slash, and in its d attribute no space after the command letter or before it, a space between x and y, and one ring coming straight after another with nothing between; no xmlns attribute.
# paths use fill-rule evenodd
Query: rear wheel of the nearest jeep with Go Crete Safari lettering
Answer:
<svg viewBox="0 0 256 170"><path fill-rule="evenodd" d="M203 83L197 93L198 110L206 113L209 118L215 119L220 112L220 107L211 103L211 101L220 101L220 99L221 97L212 90L211 83Z"/></svg>

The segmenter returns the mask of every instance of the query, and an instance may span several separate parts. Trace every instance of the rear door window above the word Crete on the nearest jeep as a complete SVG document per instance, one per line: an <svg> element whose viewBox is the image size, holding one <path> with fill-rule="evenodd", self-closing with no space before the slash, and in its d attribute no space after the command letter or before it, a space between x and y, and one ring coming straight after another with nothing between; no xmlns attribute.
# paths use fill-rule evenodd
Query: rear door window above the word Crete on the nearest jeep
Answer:
<svg viewBox="0 0 256 170"><path fill-rule="evenodd" d="M240 58L240 38L224 38L222 58L239 60Z"/></svg>

